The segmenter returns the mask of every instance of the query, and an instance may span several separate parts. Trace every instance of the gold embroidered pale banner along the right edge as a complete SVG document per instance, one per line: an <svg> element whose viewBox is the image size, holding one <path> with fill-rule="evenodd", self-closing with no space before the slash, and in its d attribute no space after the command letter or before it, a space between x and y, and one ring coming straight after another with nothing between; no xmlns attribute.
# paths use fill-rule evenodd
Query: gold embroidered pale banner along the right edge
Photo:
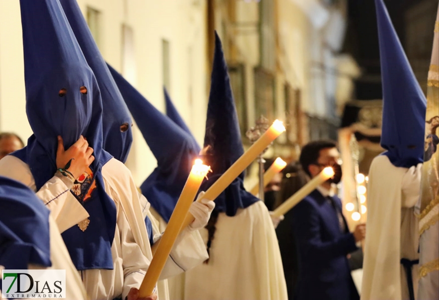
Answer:
<svg viewBox="0 0 439 300"><path fill-rule="evenodd" d="M424 163L419 213L418 299L439 299L439 7L434 28L433 49L427 81Z"/></svg>

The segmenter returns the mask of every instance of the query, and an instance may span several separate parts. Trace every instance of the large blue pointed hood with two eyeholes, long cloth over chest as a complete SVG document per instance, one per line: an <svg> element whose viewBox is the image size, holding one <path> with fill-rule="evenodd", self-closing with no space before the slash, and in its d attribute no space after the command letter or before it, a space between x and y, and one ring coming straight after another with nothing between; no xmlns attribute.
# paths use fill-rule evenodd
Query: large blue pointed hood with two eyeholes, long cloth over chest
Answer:
<svg viewBox="0 0 439 300"><path fill-rule="evenodd" d="M65 149L80 135L87 138L95 160L87 180L76 181L70 192L89 212L90 224L84 232L73 226L62 236L77 269L113 268L116 207L101 173L111 155L102 148L102 100L96 78L59 0L20 0L20 8L26 111L34 134L13 155L29 165L38 190L57 170L57 136L63 137Z"/></svg>

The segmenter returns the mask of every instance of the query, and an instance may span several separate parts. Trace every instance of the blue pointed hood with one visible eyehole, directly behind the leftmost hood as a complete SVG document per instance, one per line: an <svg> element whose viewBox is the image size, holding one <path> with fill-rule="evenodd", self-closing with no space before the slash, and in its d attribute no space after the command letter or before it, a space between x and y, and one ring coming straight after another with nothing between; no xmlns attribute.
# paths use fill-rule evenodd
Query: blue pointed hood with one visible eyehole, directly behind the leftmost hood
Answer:
<svg viewBox="0 0 439 300"><path fill-rule="evenodd" d="M64 12L101 91L103 147L125 162L133 141L131 116L76 0L62 0Z"/></svg>

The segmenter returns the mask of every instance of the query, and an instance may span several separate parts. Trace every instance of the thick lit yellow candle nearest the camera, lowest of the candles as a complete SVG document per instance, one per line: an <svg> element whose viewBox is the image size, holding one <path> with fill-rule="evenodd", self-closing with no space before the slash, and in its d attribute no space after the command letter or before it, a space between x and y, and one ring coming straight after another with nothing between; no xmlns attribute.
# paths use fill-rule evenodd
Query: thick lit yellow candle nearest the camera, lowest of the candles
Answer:
<svg viewBox="0 0 439 300"><path fill-rule="evenodd" d="M180 232L183 220L189 211L196 193L201 185L203 178L207 175L210 167L202 164L201 159L195 159L195 164L189 173L186 184L181 191L174 211L169 219L168 225L159 240L155 255L152 257L142 284L140 285L140 297L147 297L152 294L155 284L171 252L172 246Z"/></svg>

